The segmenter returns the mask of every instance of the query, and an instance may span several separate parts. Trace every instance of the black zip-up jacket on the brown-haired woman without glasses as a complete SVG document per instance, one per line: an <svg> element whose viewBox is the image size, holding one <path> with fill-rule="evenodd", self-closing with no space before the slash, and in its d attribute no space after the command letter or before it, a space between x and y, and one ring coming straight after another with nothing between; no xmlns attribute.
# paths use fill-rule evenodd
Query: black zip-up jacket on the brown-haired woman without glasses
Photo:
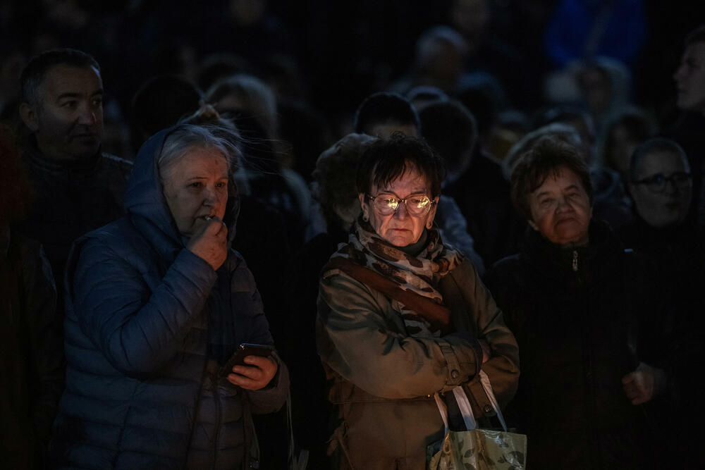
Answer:
<svg viewBox="0 0 705 470"><path fill-rule="evenodd" d="M527 434L529 468L648 468L643 413L621 383L644 360L639 342L649 335L639 325L656 323L645 276L599 221L589 245L573 249L529 229L522 252L489 271L487 285L519 345L522 375L507 415Z"/></svg>

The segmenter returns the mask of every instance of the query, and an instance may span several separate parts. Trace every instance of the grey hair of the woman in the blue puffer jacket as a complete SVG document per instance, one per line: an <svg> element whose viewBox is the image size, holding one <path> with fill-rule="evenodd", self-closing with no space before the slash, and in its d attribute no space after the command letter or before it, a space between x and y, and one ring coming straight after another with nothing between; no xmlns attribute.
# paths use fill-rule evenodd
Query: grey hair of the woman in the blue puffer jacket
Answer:
<svg viewBox="0 0 705 470"><path fill-rule="evenodd" d="M176 125L164 140L157 159L161 182L164 183L164 175L169 173L174 163L183 159L194 147L219 151L228 162L231 173L240 158L238 140L237 132L219 125Z"/></svg>

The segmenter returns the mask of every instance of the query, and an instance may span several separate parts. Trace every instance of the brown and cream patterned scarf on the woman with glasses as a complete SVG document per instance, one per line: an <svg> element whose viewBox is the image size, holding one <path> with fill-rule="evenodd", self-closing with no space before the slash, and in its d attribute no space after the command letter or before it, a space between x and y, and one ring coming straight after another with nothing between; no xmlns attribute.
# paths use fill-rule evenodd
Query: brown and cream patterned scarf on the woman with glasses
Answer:
<svg viewBox="0 0 705 470"><path fill-rule="evenodd" d="M460 252L443 246L435 226L428 230L427 244L422 252L412 256L377 235L372 225L361 217L350 229L348 244L340 245L331 259L338 256L372 269L400 288L428 297L438 304L443 302L443 296L433 287L434 275L446 276L462 261ZM398 300L392 299L392 308L400 313L410 336L438 338L441 335L439 328L431 327L426 319Z"/></svg>

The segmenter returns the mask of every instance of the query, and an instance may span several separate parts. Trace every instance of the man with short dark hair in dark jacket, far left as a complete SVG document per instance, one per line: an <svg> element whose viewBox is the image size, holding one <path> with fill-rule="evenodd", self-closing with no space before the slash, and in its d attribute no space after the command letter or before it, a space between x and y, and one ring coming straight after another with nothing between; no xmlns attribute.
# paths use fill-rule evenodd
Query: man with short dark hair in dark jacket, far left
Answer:
<svg viewBox="0 0 705 470"><path fill-rule="evenodd" d="M92 56L45 51L32 58L20 80L20 117L31 132L23 163L34 190L20 230L44 245L61 293L71 243L121 215L132 165L100 151L104 91Z"/></svg>

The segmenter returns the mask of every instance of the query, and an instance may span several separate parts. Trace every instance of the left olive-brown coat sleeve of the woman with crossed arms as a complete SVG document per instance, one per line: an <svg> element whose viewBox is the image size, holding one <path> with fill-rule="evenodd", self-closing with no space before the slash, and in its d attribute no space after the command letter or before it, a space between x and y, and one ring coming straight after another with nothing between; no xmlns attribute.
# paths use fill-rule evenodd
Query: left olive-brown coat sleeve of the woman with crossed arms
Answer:
<svg viewBox="0 0 705 470"><path fill-rule="evenodd" d="M450 390L474 376L477 361L482 362L482 357L476 357L477 340L400 334L390 328L391 320L385 318L385 307L378 300L343 273L321 279L317 347L321 360L333 371L387 399Z"/></svg>

